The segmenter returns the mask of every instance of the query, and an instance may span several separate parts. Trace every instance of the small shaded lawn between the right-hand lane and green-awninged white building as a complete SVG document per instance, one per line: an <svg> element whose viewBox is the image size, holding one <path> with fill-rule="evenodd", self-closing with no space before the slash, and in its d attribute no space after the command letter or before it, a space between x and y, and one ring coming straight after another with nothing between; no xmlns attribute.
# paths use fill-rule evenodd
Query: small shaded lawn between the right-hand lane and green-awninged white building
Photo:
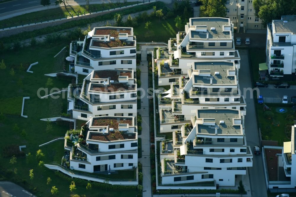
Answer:
<svg viewBox="0 0 296 197"><path fill-rule="evenodd" d="M266 54L264 49L256 49L252 48L249 50L250 55L250 65L252 69L252 75L253 75L253 82L259 80L259 64L266 62Z"/></svg>

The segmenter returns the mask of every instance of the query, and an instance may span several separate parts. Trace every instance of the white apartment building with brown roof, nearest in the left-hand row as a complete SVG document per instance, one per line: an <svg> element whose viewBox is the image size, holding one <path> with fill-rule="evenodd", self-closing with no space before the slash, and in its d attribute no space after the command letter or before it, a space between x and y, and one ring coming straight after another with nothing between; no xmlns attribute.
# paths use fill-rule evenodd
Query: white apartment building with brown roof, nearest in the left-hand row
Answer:
<svg viewBox="0 0 296 197"><path fill-rule="evenodd" d="M114 172L138 165L138 134L134 117L92 117L81 130L85 143L69 136L75 145L67 143L70 169L84 172ZM67 135L67 134L66 134Z"/></svg>

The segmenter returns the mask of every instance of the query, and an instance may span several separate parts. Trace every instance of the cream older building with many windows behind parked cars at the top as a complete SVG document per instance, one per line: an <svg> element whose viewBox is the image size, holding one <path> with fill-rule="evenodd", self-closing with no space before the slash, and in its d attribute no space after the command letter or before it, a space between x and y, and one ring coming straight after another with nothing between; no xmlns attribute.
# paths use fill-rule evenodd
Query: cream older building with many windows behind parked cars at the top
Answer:
<svg viewBox="0 0 296 197"><path fill-rule="evenodd" d="M240 33L247 29L266 29L262 20L255 16L252 0L226 0L226 17Z"/></svg>

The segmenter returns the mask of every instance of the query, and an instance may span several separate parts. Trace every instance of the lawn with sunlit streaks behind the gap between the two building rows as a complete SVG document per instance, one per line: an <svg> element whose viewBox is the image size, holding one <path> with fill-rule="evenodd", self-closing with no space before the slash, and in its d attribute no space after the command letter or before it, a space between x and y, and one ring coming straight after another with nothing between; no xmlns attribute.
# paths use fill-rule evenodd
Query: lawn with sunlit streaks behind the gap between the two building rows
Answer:
<svg viewBox="0 0 296 197"><path fill-rule="evenodd" d="M150 20L151 29L147 31L145 24L142 22L138 27L133 28L137 37L137 42L165 42L168 43L170 38L175 38L178 33L176 22L173 18L158 20L154 17Z"/></svg>

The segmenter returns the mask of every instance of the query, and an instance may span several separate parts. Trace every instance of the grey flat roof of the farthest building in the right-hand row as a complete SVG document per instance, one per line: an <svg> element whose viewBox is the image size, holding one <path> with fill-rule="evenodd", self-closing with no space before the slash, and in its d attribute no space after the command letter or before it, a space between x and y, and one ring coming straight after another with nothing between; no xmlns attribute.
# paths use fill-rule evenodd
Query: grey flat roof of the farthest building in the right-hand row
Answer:
<svg viewBox="0 0 296 197"><path fill-rule="evenodd" d="M205 26L207 28L207 32L200 32L191 30L192 38L201 38L207 39L207 33L209 33L209 39L230 39L231 38L231 30L223 31L223 26L230 26L230 20L228 18L220 18L220 17L207 17L207 18L191 18L190 26ZM204 28L204 27L203 27ZM215 28L215 30L211 30L211 28ZM201 27L197 27L197 29L202 29Z"/></svg>

